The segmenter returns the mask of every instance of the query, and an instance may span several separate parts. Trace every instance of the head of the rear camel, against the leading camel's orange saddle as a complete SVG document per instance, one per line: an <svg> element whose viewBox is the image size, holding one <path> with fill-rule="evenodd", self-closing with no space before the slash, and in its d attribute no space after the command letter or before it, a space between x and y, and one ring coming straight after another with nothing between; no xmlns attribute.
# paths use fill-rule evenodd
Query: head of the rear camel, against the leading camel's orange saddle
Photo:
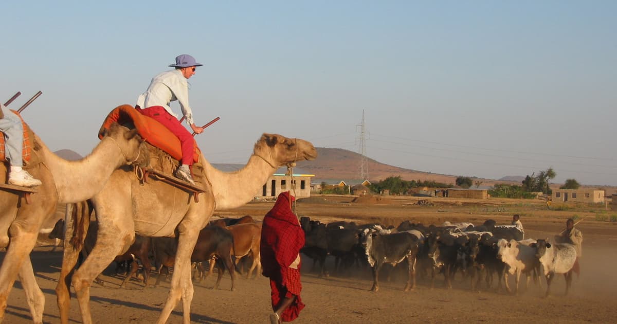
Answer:
<svg viewBox="0 0 617 324"><path fill-rule="evenodd" d="M130 130L118 123L112 123L104 133L103 139L105 138L110 138L117 144L126 164L146 167L150 163L149 151L136 129Z"/></svg>

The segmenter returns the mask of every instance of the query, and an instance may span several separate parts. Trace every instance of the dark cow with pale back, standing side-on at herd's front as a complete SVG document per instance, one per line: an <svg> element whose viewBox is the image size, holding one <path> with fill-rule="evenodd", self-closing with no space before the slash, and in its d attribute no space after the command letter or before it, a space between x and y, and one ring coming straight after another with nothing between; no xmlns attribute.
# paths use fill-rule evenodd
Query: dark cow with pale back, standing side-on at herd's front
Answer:
<svg viewBox="0 0 617 324"><path fill-rule="evenodd" d="M379 270L385 263L396 265L407 259L409 274L405 291L416 288L416 255L420 248L417 236L409 232L381 235L378 230L366 228L360 238L368 264L373 268L373 288L379 290ZM412 283L413 280L413 283Z"/></svg>

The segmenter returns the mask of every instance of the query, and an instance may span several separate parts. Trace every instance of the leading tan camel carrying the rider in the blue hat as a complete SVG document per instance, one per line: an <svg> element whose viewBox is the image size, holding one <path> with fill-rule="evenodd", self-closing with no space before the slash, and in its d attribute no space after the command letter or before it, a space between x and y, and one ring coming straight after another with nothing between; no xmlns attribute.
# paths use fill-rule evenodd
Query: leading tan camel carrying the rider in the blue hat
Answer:
<svg viewBox="0 0 617 324"><path fill-rule="evenodd" d="M135 239L143 236L178 236L178 251L167 301L157 323L165 323L175 305L182 300L183 322L190 322L193 282L191 281L191 253L199 231L204 228L216 209L242 206L259 193L263 184L278 167L292 165L299 160L317 157L313 144L303 139L291 139L277 134L263 134L255 143L249 162L241 170L225 173L199 156L204 167L202 177L194 179L205 189L196 202L193 194L162 181L141 183L135 175L125 170L112 174L92 201L96 209L99 232L96 245L85 262L73 273L77 262L78 247L69 244L79 241L74 236L75 223L67 218L67 235L64 245L62 270L56 287L60 320L68 323L70 284L73 284L80 306L83 323L92 323L89 308L90 286L94 278L114 259L122 254ZM70 208L67 208L70 209ZM68 215L68 210L67 210ZM70 230L73 228L73 230ZM81 231L77 231L81 233ZM73 235L73 238L70 236Z"/></svg>

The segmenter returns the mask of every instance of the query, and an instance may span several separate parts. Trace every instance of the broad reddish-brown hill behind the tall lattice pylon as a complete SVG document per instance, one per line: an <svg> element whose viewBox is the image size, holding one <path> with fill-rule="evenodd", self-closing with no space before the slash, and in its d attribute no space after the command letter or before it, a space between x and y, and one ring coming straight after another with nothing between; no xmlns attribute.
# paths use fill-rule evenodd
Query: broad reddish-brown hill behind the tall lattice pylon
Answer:
<svg viewBox="0 0 617 324"><path fill-rule="evenodd" d="M362 156L346 149L332 149L328 147L316 147L317 159L312 161L297 162L297 166L315 174L318 179L357 179L360 160ZM454 184L457 175L442 175L431 172L421 172L408 168L399 168L393 165L380 163L368 159L369 181L379 181L387 177L400 176L403 180L431 180L446 184ZM475 178L474 178L475 180ZM509 183L510 181L497 181L478 178L482 185L494 185L495 183Z"/></svg>

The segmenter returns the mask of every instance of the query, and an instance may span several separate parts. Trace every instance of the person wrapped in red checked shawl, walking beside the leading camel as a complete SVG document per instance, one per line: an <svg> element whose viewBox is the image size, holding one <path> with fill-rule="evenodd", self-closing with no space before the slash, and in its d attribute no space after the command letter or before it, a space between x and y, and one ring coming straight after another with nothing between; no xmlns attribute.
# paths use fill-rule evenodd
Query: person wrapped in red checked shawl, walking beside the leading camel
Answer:
<svg viewBox="0 0 617 324"><path fill-rule="evenodd" d="M295 200L289 191L281 193L263 217L260 256L262 273L270 278L274 310L270 322L273 324L295 320L305 306L300 299L300 249L304 246L304 231L291 211L291 202Z"/></svg>

